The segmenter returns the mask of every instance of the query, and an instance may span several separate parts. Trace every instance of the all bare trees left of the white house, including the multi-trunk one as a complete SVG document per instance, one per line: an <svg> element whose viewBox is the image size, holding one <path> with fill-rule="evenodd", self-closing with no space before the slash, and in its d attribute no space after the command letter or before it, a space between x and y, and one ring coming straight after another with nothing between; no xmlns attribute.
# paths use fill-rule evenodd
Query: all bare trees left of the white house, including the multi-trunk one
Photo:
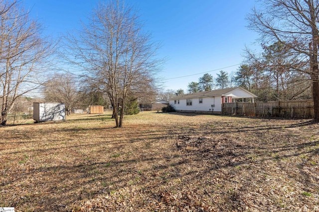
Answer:
<svg viewBox="0 0 319 212"><path fill-rule="evenodd" d="M21 1L0 0L0 125L23 95L41 89L46 101L65 103L67 113L89 102L111 105L122 127L130 107L158 89L159 45L124 1L98 2L81 29L61 43L44 37L28 13ZM62 65L52 74L54 56Z"/></svg>

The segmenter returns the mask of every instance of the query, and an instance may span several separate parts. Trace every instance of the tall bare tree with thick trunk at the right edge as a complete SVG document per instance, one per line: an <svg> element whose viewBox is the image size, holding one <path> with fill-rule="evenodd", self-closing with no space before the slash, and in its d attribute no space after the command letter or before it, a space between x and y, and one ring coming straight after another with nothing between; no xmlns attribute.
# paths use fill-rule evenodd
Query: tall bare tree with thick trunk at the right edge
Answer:
<svg viewBox="0 0 319 212"><path fill-rule="evenodd" d="M263 9L248 15L250 28L263 41L289 46L309 69L296 70L310 75L314 100L314 120L319 122L319 2L318 0L265 0Z"/></svg>

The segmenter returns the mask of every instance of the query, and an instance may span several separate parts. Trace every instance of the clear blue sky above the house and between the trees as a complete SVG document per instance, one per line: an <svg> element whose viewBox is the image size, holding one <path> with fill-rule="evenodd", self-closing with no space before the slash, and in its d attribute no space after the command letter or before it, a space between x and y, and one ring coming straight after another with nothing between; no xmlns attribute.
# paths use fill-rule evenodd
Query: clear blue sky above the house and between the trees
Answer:
<svg viewBox="0 0 319 212"><path fill-rule="evenodd" d="M45 34L58 38L79 29L80 20L85 21L97 1L22 0L22 3L44 25ZM186 91L187 84L198 81L203 72L216 77L220 69L236 71L243 62L245 45L254 49L253 42L258 37L246 27L246 16L255 0L126 0L126 3L139 10L145 30L151 31L153 40L162 44L158 56L167 58L160 72L165 78L164 89ZM186 75L191 76L182 77Z"/></svg>

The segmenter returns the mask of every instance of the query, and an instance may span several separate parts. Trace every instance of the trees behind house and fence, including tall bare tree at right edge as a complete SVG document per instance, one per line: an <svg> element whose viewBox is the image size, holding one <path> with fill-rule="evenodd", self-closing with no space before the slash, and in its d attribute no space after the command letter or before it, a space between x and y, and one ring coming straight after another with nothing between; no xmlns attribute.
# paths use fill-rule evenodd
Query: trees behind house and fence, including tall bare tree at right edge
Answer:
<svg viewBox="0 0 319 212"><path fill-rule="evenodd" d="M312 98L319 121L318 0L262 1L247 19L249 28L260 34L262 52L246 48L243 64L230 77L230 84L248 89L264 102ZM188 91L205 90L202 78L210 80L208 76L190 82ZM220 78L219 74L216 79Z"/></svg>

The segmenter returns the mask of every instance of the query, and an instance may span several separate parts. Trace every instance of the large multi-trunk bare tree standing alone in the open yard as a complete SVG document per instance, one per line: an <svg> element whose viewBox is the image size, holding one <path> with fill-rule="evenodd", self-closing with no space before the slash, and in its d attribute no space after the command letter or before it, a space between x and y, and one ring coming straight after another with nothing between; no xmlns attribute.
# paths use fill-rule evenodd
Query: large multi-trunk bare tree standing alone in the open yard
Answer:
<svg viewBox="0 0 319 212"><path fill-rule="evenodd" d="M122 127L126 98L134 83L153 80L158 71L159 61L154 59L157 46L150 38L132 7L120 0L99 2L79 37L69 35L66 51L74 56L74 64L104 87L116 127Z"/></svg>

